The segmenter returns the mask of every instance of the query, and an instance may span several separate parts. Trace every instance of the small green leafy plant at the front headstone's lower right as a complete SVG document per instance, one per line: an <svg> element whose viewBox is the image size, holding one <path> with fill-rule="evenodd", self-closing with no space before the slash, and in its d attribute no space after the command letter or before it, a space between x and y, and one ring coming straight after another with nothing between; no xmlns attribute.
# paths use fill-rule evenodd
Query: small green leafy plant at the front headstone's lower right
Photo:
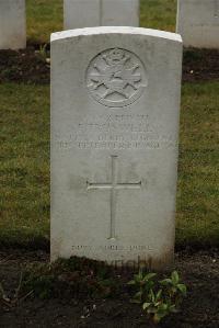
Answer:
<svg viewBox="0 0 219 328"><path fill-rule="evenodd" d="M172 313L177 313L183 297L186 296L186 286L181 283L178 273L173 271L171 278L159 281L155 273L143 273L140 269L134 280L128 282L136 289L131 302L142 305L155 324Z"/></svg>

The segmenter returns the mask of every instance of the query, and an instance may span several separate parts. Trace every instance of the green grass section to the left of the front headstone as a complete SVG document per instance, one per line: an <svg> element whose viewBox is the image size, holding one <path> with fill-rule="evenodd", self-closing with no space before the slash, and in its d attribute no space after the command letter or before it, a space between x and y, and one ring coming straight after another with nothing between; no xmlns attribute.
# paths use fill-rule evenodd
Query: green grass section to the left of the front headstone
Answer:
<svg viewBox="0 0 219 328"><path fill-rule="evenodd" d="M49 90L0 86L0 240L31 242L49 235Z"/></svg>

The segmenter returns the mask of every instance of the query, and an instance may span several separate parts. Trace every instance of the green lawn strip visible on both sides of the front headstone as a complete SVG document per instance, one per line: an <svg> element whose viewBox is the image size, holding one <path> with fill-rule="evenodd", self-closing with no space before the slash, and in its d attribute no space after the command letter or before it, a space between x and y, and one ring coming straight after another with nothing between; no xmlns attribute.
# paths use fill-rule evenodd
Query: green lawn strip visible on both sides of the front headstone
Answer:
<svg viewBox="0 0 219 328"><path fill-rule="evenodd" d="M176 244L219 245L219 82L182 93ZM0 241L49 239L49 89L0 84Z"/></svg>

